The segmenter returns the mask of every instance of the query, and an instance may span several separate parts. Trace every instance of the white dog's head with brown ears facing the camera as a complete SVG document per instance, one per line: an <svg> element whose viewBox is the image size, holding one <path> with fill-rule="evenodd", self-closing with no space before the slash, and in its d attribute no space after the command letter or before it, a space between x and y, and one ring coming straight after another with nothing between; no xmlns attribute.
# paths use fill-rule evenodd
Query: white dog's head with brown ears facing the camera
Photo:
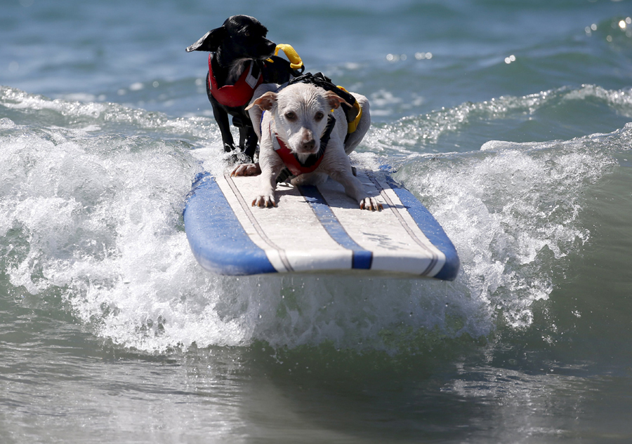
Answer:
<svg viewBox="0 0 632 444"><path fill-rule="evenodd" d="M274 114L277 134L299 155L315 154L327 127L327 115L344 102L331 91L310 88L302 83L287 86L279 93L265 93L255 103Z"/></svg>

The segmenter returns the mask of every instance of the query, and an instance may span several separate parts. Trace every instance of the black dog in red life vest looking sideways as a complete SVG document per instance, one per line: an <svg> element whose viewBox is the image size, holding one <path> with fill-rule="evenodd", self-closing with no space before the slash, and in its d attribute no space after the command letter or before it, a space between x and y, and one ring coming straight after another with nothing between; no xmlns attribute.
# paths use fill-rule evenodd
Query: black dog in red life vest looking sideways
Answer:
<svg viewBox="0 0 632 444"><path fill-rule="evenodd" d="M228 114L239 128L239 149L253 159L257 135L248 112L254 90L261 83L285 83L291 76L301 74L283 58L276 57L276 45L265 38L268 29L256 18L233 15L222 27L207 32L187 48L209 51L209 74L206 75L206 94L213 107L213 116L222 133L224 151L235 150L230 133ZM271 59L271 61L267 61Z"/></svg>

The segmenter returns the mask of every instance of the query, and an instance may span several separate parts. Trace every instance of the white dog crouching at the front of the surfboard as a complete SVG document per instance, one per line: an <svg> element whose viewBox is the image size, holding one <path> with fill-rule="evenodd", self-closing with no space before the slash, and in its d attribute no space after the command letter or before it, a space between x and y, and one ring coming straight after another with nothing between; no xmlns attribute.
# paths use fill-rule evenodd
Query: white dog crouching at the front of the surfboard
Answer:
<svg viewBox="0 0 632 444"><path fill-rule="evenodd" d="M268 91L246 107L254 108L250 112L251 119L256 130L261 129L258 134L261 183L253 206L277 206L276 180L287 167L296 175L291 180L295 186L320 184L329 176L342 184L345 193L356 199L363 210L382 210L381 203L368 196L362 182L353 175L348 158L371 122L367 97L353 95L362 107L362 119L346 144L348 123L340 105L348 104L332 91L309 83L295 83L279 93ZM258 128L261 110L264 113L261 128ZM253 173L254 165L242 165L235 168L232 175Z"/></svg>

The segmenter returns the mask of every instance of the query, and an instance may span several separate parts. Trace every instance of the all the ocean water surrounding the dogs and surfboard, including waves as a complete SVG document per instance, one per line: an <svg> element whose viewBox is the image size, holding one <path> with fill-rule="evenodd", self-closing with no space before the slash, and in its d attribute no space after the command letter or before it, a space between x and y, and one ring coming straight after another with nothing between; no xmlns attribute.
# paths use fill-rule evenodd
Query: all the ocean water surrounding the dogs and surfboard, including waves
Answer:
<svg viewBox="0 0 632 444"><path fill-rule="evenodd" d="M2 0L0 443L632 442L632 1ZM451 283L213 276L206 55L369 97Z"/></svg>

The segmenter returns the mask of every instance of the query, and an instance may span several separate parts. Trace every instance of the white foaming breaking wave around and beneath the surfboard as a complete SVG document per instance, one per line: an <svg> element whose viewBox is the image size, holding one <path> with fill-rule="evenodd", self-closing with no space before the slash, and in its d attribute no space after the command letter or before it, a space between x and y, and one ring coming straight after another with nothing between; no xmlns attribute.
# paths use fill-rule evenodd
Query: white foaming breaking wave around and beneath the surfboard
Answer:
<svg viewBox="0 0 632 444"><path fill-rule="evenodd" d="M393 166L445 228L462 264L445 283L208 274L190 253L181 212L199 161L223 168L213 121L3 87L1 272L14 295L70 309L96 335L145 351L263 341L397 352L423 347L428 335L526 328L534 301L572 273L591 241L586 190L617 168L632 126L466 152L428 147L474 121L574 100L632 113L629 90L500 97L377 126L354 154Z"/></svg>

